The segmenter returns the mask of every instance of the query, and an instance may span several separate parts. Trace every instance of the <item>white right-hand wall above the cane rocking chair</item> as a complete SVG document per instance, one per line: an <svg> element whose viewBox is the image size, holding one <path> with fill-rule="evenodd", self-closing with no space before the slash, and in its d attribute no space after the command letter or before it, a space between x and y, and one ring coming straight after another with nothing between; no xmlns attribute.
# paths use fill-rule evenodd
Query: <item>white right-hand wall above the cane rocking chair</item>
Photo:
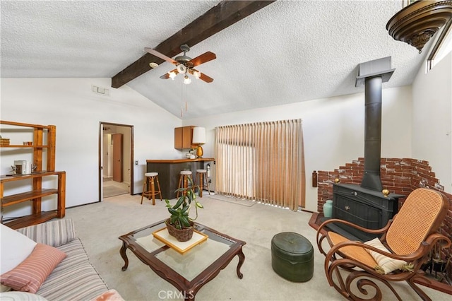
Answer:
<svg viewBox="0 0 452 301"><path fill-rule="evenodd" d="M452 52L412 84L412 158L429 161L444 191L452 193Z"/></svg>

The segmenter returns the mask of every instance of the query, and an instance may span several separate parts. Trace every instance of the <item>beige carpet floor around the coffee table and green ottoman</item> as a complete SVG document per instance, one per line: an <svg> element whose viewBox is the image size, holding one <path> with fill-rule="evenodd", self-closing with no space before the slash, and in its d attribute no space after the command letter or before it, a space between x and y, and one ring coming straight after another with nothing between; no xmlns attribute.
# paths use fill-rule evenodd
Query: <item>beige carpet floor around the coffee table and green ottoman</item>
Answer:
<svg viewBox="0 0 452 301"><path fill-rule="evenodd" d="M182 300L181 295L143 264L130 250L129 268L121 271L124 260L119 255L119 236L168 216L165 201L145 199L123 194L100 203L66 209L66 218L72 218L90 261L109 288L116 289L125 300ZM240 206L230 201L219 201L215 196L203 196L199 201L198 223L208 225L239 240L244 240L244 274L237 277L236 256L218 276L206 283L196 294L196 300L345 300L330 287L323 271L323 255L316 247L316 231L309 226L311 213L293 212L283 208L254 203ZM278 276L271 266L270 242L279 232L297 232L314 246L314 276L304 283L292 283ZM369 294L371 296L371 288ZM406 283L396 284L403 300L420 300ZM432 300L451 300L446 295L424 288ZM363 296L365 297L365 296ZM369 297L369 296L367 296ZM383 290L383 300L395 298Z"/></svg>

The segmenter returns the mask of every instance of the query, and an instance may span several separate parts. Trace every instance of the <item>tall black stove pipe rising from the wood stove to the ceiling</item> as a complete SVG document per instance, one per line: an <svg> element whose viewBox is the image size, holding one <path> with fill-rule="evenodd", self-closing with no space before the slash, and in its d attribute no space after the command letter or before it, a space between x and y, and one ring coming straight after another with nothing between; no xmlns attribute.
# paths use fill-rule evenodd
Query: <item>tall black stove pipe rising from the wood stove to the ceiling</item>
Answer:
<svg viewBox="0 0 452 301"><path fill-rule="evenodd" d="M389 81L394 70L391 57L367 61L358 65L355 86L365 83L364 176L361 187L381 191L381 84Z"/></svg>

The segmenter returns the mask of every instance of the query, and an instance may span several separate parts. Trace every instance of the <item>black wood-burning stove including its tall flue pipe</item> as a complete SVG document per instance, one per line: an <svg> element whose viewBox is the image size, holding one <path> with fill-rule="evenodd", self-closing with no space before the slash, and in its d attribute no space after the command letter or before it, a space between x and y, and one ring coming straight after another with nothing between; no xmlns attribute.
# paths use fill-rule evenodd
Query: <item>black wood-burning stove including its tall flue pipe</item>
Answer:
<svg viewBox="0 0 452 301"><path fill-rule="evenodd" d="M383 228L398 211L398 194L385 196L380 179L381 160L381 84L389 81L395 69L391 69L391 57L359 64L355 85L364 83L364 175L361 185L334 184L333 218L347 220L364 228ZM343 224L340 232L352 240L371 240L376 235L356 230ZM345 231L345 232L344 232Z"/></svg>

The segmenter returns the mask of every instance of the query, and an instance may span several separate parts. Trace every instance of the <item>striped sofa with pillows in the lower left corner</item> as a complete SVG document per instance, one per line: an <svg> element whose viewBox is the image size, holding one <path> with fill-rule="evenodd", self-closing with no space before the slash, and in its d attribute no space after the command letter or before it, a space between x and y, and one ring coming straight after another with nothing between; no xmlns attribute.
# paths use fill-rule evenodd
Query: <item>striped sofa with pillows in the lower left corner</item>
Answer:
<svg viewBox="0 0 452 301"><path fill-rule="evenodd" d="M1 266L0 300L124 300L90 264L71 219L12 232L1 225ZM23 274L30 279L18 284Z"/></svg>

